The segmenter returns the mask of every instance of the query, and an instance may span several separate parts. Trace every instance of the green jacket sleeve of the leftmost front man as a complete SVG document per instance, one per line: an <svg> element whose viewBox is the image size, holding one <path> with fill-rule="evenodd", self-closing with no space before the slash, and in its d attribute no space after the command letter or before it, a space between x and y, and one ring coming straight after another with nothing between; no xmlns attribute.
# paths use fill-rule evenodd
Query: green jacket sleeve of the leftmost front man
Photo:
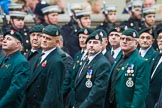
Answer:
<svg viewBox="0 0 162 108"><path fill-rule="evenodd" d="M22 98L22 93L27 83L30 74L30 66L27 62L18 64L14 68L14 74L9 89L0 100L0 108L5 108L7 105L15 102L19 96Z"/></svg>

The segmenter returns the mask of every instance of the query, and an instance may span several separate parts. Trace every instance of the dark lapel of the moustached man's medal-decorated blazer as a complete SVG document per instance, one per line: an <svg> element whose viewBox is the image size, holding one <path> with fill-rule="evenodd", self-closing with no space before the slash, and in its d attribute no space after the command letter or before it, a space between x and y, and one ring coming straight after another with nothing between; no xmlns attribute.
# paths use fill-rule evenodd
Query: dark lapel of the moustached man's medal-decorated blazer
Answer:
<svg viewBox="0 0 162 108"><path fill-rule="evenodd" d="M96 55L96 57L88 65L85 66L85 68L82 70L82 74L79 78L78 78L78 75L77 75L77 77L75 79L75 87L77 87L77 85L82 81L83 78L86 78L86 74L87 74L88 69L92 69L92 66L96 63L96 61L98 60L98 58L100 56L101 56L101 53ZM80 69L79 69L78 73L79 72L80 72Z"/></svg>

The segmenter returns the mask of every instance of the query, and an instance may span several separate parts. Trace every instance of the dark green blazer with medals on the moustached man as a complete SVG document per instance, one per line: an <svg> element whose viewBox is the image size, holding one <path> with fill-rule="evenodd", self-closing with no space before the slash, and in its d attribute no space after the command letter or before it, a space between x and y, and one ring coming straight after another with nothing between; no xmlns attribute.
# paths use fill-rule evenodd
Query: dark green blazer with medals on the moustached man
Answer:
<svg viewBox="0 0 162 108"><path fill-rule="evenodd" d="M83 63L84 64L84 63ZM108 84L108 74L110 71L110 63L106 60L102 53L99 53L89 64L87 64L78 77L81 68L75 78L75 108L103 108L106 89ZM92 87L86 86L86 78L88 71L92 71Z"/></svg>

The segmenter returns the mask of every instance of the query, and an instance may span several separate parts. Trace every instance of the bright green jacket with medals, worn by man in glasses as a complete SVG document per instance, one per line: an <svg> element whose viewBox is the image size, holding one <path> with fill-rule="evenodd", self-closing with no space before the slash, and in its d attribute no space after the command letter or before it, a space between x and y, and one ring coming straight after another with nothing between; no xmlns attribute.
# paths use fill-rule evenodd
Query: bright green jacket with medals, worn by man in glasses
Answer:
<svg viewBox="0 0 162 108"><path fill-rule="evenodd" d="M121 58L122 56L117 58L109 76L110 82L114 68L119 68L115 84L116 106L117 108L146 108L145 99L148 93L150 75L149 67L147 65L148 62L146 62L138 54L138 51L135 50L129 55L122 66L116 67L116 64ZM131 69L133 69L134 72L132 71L132 73L128 73L130 67L132 67ZM108 93L109 92L108 88ZM108 106L108 103L108 99L106 99L106 106Z"/></svg>

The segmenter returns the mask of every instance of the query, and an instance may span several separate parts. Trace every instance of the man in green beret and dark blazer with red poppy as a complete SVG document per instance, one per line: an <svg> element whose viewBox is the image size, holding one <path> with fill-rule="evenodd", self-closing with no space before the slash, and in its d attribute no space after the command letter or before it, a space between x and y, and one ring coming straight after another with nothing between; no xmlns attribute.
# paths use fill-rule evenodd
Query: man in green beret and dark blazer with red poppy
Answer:
<svg viewBox="0 0 162 108"><path fill-rule="evenodd" d="M43 55L33 64L22 108L63 108L62 84L65 66L56 49L60 29L48 25L42 32Z"/></svg>

